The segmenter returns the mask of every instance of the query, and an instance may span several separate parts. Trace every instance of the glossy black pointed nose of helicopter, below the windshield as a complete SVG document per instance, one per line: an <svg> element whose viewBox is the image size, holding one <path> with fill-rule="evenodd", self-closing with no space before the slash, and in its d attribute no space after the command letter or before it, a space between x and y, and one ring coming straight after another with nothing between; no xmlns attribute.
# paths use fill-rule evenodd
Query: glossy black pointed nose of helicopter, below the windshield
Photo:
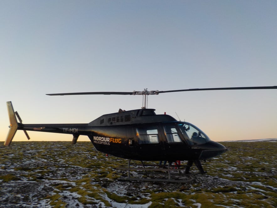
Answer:
<svg viewBox="0 0 277 208"><path fill-rule="evenodd" d="M200 154L200 160L219 156L227 150L225 146L214 141L209 141L203 146L201 145L201 148L203 148L204 150Z"/></svg>

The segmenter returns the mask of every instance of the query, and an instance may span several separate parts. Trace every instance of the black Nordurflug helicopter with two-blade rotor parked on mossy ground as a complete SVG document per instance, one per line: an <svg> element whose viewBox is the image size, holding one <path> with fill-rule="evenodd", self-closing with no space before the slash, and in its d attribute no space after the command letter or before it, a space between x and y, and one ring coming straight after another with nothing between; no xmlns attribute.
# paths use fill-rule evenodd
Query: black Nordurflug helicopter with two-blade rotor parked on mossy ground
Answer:
<svg viewBox="0 0 277 208"><path fill-rule="evenodd" d="M148 91L144 89L143 91L132 92L46 94L48 96L143 95L143 106L141 109L128 111L119 109L118 112L102 115L90 123L70 124L23 124L18 112L13 110L12 102L8 101L10 129L4 145L8 146L11 144L17 130L23 130L28 140L30 138L27 131L72 134L72 144L76 144L80 135L86 135L96 150L115 157L128 159L128 167L124 168L128 170L128 178L125 179L133 180L137 178L130 178L130 170L144 170L143 161L199 161L219 156L227 150L220 143L210 140L194 124L178 121L167 114L157 115L155 109L146 108L146 96L181 91L254 89L277 89L277 86L196 88L168 91ZM143 168L131 168L131 160L141 161ZM168 162L168 169L170 168L170 163ZM158 170L165 170L165 168ZM168 180L171 181L170 171L168 171L168 175Z"/></svg>

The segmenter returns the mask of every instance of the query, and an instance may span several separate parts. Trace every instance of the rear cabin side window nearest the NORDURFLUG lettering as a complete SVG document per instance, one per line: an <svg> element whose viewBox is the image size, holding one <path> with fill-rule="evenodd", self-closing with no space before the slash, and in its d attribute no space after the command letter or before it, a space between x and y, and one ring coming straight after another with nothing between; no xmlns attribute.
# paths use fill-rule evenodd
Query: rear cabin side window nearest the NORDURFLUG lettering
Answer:
<svg viewBox="0 0 277 208"><path fill-rule="evenodd" d="M157 127L141 127L137 128L136 131L139 144L159 143Z"/></svg>

